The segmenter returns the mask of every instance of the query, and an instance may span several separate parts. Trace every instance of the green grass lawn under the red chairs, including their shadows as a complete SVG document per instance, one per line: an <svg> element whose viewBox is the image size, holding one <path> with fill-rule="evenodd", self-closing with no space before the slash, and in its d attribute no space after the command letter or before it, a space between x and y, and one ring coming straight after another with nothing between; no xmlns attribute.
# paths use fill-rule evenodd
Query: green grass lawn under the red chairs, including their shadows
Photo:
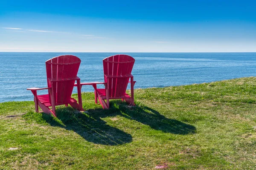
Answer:
<svg viewBox="0 0 256 170"><path fill-rule="evenodd" d="M135 107L82 98L57 118L0 103L0 169L256 169L256 77L136 89Z"/></svg>

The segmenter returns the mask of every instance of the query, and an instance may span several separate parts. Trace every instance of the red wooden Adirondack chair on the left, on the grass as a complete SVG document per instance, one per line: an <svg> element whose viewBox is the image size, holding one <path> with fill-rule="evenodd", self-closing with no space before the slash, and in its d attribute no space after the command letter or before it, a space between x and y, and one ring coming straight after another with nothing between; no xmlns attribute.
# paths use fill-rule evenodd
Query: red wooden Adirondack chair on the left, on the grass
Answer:
<svg viewBox="0 0 256 170"><path fill-rule="evenodd" d="M35 111L38 112L38 105L44 113L52 113L55 117L56 105L68 105L79 111L83 111L81 102L80 78L77 72L81 60L73 55L63 55L54 57L46 62L47 88L27 88L34 94ZM71 98L75 81L78 91L78 101ZM48 89L48 94L37 95L38 90ZM52 107L50 109L49 107Z"/></svg>

